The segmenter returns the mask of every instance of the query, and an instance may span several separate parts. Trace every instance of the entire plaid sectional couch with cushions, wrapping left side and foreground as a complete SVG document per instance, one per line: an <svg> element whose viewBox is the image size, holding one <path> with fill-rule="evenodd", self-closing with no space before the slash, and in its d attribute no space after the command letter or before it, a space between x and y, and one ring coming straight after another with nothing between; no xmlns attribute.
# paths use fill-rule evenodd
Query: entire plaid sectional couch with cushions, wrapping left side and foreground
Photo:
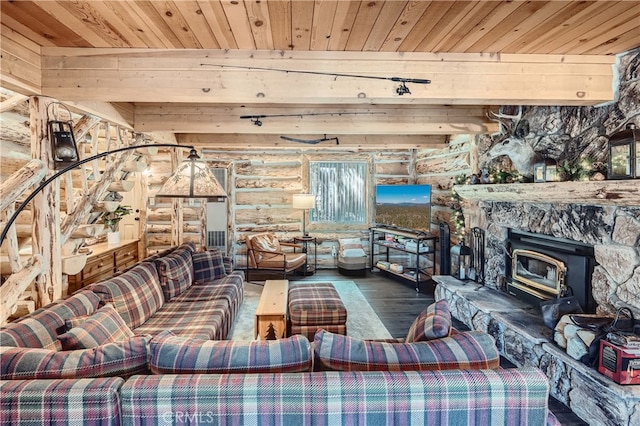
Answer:
<svg viewBox="0 0 640 426"><path fill-rule="evenodd" d="M243 279L180 247L3 327L0 424L556 424L546 376L500 369L446 302L401 341L222 340Z"/></svg>

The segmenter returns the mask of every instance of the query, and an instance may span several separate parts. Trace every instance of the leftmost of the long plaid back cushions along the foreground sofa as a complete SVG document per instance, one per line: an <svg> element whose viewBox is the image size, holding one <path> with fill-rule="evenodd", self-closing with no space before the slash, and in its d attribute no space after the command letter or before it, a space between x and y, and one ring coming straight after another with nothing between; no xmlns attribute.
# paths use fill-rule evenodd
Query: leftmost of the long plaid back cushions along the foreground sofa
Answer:
<svg viewBox="0 0 640 426"><path fill-rule="evenodd" d="M0 348L0 379L76 379L149 372L151 336L134 336L91 349L55 352L35 348Z"/></svg>

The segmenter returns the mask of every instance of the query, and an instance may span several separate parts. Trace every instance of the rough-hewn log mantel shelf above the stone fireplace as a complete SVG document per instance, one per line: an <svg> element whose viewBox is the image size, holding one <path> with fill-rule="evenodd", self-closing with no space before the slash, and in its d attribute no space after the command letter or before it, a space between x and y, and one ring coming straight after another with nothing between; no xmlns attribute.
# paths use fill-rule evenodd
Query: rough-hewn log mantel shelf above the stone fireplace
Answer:
<svg viewBox="0 0 640 426"><path fill-rule="evenodd" d="M456 185L464 200L640 206L640 180Z"/></svg>

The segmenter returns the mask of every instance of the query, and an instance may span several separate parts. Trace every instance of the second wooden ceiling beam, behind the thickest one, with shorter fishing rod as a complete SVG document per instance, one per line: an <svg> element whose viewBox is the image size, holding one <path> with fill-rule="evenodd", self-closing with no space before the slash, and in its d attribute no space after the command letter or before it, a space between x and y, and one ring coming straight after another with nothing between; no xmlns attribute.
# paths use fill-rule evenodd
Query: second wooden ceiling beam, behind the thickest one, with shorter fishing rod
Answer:
<svg viewBox="0 0 640 426"><path fill-rule="evenodd" d="M140 104L135 117L141 132L419 135L498 130L482 107Z"/></svg>

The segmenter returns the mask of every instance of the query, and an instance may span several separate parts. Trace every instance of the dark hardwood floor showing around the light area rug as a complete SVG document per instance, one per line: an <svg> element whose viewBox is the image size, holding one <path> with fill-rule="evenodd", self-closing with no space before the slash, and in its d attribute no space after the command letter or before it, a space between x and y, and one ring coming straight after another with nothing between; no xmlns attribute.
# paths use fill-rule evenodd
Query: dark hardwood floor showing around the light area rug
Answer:
<svg viewBox="0 0 640 426"><path fill-rule="evenodd" d="M416 316L435 300L432 288L430 291L425 289L417 292L412 284L391 279L381 273L368 272L364 277L345 276L337 270L322 269L310 277L290 276L288 279L295 281L304 279L354 281L389 333L396 338L405 337ZM455 319L454 326L460 330L466 329L464 324ZM503 360L502 366L510 367L513 364ZM563 426L588 425L553 397L549 399L549 407Z"/></svg>

